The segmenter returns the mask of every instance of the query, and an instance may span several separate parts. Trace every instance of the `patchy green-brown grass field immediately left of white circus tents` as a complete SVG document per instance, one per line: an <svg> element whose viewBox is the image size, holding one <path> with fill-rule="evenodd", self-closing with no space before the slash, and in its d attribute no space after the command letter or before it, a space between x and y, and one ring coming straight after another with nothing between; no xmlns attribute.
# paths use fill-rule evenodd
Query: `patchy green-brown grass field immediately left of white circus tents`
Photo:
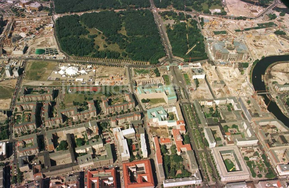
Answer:
<svg viewBox="0 0 289 188"><path fill-rule="evenodd" d="M30 61L28 62L24 79L46 81L56 65L56 62Z"/></svg>

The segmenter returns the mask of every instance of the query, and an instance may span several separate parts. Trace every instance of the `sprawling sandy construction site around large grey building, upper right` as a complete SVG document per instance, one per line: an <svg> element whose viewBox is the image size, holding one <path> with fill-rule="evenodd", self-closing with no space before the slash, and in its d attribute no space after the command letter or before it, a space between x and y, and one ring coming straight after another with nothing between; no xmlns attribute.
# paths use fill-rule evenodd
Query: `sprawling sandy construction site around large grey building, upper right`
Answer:
<svg viewBox="0 0 289 188"><path fill-rule="evenodd" d="M279 15L279 12L271 12ZM288 31L288 14L282 17L277 16L273 20L269 20L267 15L253 20L246 18L245 20L232 20L211 16L203 16L203 18L202 32L209 47L209 55L217 62L245 62L261 59L262 56L282 55L289 52L289 38L274 33L277 30L285 33ZM244 48L241 47L241 50L238 50L236 43ZM220 53L216 54L216 47ZM239 53L242 50L247 51L247 57L234 58L236 54L234 51ZM230 58L230 54L233 54L233 58Z"/></svg>

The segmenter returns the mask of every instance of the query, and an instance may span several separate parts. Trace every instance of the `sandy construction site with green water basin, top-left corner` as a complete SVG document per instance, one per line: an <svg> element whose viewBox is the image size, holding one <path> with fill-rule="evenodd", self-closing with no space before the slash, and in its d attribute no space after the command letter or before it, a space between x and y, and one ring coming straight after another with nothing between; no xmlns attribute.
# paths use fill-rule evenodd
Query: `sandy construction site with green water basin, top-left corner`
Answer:
<svg viewBox="0 0 289 188"><path fill-rule="evenodd" d="M12 10L19 10L18 6L21 5L14 5ZM7 25L1 34L1 55L64 59L65 56L60 52L54 37L51 16L45 15L48 12L39 10L31 13L28 5L23 5L22 10L18 18L7 18Z"/></svg>

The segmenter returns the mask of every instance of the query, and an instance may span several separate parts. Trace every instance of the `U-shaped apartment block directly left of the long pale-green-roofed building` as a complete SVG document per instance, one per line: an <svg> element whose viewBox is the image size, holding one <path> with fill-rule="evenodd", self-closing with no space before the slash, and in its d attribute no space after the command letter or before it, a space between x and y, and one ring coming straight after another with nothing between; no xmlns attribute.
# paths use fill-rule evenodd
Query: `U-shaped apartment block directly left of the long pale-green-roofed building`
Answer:
<svg viewBox="0 0 289 188"><path fill-rule="evenodd" d="M103 104L105 113L113 113L116 111L134 108L135 101L131 94L125 94L125 102L123 103L110 104L110 99L108 99L107 97L104 97L102 99L102 104Z"/></svg>

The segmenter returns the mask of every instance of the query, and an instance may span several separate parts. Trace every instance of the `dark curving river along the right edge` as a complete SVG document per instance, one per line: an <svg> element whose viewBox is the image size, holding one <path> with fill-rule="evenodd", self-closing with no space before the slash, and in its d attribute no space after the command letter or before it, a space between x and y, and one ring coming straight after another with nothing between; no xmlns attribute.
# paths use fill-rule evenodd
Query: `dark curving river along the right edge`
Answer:
<svg viewBox="0 0 289 188"><path fill-rule="evenodd" d="M266 69L272 63L279 61L289 61L289 55L278 55L278 56L269 56L261 59L254 67L252 72L252 84L255 91L264 91L266 90L265 83L262 82L261 75L265 74ZM265 104L268 105L270 99L267 95L262 95L264 97ZM289 127L289 118L285 116L282 111L279 109L277 104L273 101L270 102L268 106L268 111L272 112L277 119L282 121L287 127Z"/></svg>

